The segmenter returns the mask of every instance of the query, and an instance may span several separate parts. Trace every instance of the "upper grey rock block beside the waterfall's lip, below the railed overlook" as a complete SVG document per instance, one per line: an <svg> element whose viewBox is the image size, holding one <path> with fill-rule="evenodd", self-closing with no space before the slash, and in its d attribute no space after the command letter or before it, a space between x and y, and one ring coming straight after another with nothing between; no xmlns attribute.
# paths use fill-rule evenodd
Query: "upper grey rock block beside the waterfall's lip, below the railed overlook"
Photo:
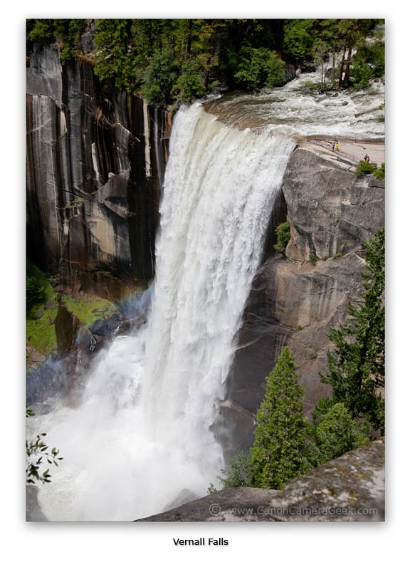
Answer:
<svg viewBox="0 0 410 572"><path fill-rule="evenodd" d="M359 177L300 147L290 157L283 195L292 223L286 256L299 261L362 251L384 224L384 181Z"/></svg>

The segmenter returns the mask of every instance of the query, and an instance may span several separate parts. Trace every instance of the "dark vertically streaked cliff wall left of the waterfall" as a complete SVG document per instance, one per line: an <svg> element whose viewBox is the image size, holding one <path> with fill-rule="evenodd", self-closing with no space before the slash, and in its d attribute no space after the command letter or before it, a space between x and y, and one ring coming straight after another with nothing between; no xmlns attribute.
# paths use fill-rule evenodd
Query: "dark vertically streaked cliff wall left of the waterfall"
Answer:
<svg viewBox="0 0 410 572"><path fill-rule="evenodd" d="M111 298L154 276L170 114L57 46L27 63L27 256Z"/></svg>

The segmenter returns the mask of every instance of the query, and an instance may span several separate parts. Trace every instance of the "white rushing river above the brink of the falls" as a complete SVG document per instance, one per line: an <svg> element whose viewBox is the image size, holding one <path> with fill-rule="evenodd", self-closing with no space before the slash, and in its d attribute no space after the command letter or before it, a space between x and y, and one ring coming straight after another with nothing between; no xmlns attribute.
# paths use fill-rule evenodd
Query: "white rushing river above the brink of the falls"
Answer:
<svg viewBox="0 0 410 572"><path fill-rule="evenodd" d="M281 88L216 95L204 104L209 113L238 129L276 125L288 135L380 139L384 137L384 83L357 91L320 93L312 85L320 73L301 73Z"/></svg>

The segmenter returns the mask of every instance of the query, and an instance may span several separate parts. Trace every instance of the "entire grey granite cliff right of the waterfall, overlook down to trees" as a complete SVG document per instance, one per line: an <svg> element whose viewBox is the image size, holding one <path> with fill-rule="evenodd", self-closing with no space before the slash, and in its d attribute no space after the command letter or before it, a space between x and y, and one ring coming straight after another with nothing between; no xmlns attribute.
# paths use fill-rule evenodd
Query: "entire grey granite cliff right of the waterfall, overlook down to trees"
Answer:
<svg viewBox="0 0 410 572"><path fill-rule="evenodd" d="M364 241L384 224L384 181L359 177L306 147L293 152L283 180L291 239L286 257L270 256L253 280L222 404L221 435L233 454L249 447L265 378L288 345L309 413L330 388L327 333L359 300Z"/></svg>

